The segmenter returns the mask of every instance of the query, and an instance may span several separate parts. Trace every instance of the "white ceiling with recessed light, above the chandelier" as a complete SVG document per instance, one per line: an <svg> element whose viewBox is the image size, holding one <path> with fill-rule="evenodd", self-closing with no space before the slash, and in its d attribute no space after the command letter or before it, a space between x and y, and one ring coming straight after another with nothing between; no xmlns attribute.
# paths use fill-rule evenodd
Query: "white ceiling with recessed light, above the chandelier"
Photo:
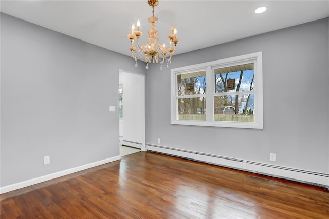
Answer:
<svg viewBox="0 0 329 219"><path fill-rule="evenodd" d="M254 10L266 6L262 14ZM146 40L152 7L139 1L4 1L0 11L83 41L131 55L126 37L140 19ZM329 16L327 1L166 1L155 7L159 43L177 28L175 54L218 45Z"/></svg>

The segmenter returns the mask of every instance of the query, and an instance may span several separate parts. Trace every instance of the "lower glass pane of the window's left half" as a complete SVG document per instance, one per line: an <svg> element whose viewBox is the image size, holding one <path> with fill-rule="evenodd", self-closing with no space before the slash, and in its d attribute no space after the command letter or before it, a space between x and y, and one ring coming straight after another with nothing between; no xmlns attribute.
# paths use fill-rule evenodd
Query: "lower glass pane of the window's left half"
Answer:
<svg viewBox="0 0 329 219"><path fill-rule="evenodd" d="M179 120L206 120L206 98L178 99Z"/></svg>

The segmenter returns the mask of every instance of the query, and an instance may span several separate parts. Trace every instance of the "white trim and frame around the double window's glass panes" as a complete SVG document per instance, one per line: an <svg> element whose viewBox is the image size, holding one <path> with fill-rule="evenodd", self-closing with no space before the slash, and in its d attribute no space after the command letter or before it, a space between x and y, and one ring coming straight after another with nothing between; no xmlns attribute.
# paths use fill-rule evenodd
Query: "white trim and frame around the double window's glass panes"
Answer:
<svg viewBox="0 0 329 219"><path fill-rule="evenodd" d="M254 122L223 122L213 121L214 106L213 98L214 93L214 67L227 67L234 65L241 65L244 63L254 63L254 103L255 103L255 121ZM177 74L193 72L199 69L206 69L207 77L207 93L206 95L206 120L205 121L192 121L192 120L178 120L178 107L177 107ZM231 127L231 128L252 128L263 129L263 59L262 52L255 52L246 55L240 55L217 61L200 63L191 66L171 69L171 124L177 125L192 125L192 126L213 126L213 127Z"/></svg>

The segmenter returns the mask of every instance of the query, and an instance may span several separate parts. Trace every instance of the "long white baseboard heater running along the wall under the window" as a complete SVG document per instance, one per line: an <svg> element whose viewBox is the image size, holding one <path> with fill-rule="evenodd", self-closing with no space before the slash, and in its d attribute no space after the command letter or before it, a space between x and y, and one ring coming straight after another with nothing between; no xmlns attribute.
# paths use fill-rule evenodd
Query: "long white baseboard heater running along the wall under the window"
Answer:
<svg viewBox="0 0 329 219"><path fill-rule="evenodd" d="M147 144L146 149L147 151L154 151L172 156L187 158L189 160L259 173L277 178L284 178L286 180L292 180L324 188L329 187L329 174L327 173L282 167L260 162L241 160L233 157L219 156L215 154L189 151L153 144Z"/></svg>

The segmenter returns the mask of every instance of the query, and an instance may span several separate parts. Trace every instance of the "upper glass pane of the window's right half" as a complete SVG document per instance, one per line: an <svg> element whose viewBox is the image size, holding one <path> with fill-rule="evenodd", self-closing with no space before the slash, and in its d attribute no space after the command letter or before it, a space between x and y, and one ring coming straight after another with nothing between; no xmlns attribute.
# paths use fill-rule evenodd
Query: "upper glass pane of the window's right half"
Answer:
<svg viewBox="0 0 329 219"><path fill-rule="evenodd" d="M253 63L215 68L215 93L251 91L254 89Z"/></svg>

